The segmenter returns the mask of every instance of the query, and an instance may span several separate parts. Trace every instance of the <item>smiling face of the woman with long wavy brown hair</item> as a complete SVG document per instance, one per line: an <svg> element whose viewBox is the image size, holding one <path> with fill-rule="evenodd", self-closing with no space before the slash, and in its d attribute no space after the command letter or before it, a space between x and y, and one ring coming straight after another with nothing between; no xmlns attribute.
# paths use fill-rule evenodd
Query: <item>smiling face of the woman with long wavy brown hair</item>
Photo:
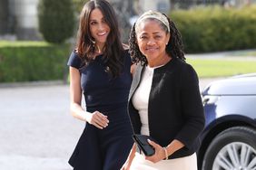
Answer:
<svg viewBox="0 0 256 170"><path fill-rule="evenodd" d="M107 36L110 33L110 27L106 23L103 13L100 9L95 8L92 13L90 14L90 32L92 36L94 37L94 41L97 46L100 47L100 49L103 48Z"/></svg>

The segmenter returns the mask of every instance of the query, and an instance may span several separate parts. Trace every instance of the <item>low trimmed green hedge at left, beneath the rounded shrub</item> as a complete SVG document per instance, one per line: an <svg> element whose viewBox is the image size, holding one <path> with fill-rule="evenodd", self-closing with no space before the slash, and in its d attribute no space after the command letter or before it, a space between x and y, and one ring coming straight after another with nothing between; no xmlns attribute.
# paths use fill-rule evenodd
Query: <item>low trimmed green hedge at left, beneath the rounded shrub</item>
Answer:
<svg viewBox="0 0 256 170"><path fill-rule="evenodd" d="M68 44L0 42L0 82L64 80Z"/></svg>

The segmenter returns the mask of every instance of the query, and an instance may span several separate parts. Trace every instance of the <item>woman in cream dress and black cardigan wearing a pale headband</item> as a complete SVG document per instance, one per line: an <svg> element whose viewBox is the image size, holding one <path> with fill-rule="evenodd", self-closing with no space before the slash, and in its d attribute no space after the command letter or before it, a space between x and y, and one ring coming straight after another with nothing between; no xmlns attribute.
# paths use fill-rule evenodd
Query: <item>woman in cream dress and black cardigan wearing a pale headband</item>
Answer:
<svg viewBox="0 0 256 170"><path fill-rule="evenodd" d="M134 134L151 136L153 156L133 144L122 170L196 170L204 127L198 77L185 62L181 34L165 15L148 11L133 25L129 40L137 63L129 95Z"/></svg>

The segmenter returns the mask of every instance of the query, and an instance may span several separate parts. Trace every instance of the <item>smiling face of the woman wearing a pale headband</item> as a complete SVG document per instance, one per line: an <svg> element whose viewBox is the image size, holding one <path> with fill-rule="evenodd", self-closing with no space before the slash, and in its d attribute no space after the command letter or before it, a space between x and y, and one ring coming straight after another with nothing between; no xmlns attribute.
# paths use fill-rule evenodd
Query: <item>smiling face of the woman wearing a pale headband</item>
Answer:
<svg viewBox="0 0 256 170"><path fill-rule="evenodd" d="M136 37L139 49L149 64L159 63L166 56L165 48L169 42L170 33L162 29L159 21L153 19L143 21L138 25Z"/></svg>

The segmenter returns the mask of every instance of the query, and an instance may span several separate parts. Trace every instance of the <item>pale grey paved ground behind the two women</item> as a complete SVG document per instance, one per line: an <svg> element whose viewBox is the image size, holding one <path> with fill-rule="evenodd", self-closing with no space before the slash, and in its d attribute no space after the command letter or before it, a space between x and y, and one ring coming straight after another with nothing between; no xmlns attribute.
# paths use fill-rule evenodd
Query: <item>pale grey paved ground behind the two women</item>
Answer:
<svg viewBox="0 0 256 170"><path fill-rule="evenodd" d="M201 89L212 79L200 80ZM67 85L0 88L0 169L71 170L84 123L69 114Z"/></svg>

